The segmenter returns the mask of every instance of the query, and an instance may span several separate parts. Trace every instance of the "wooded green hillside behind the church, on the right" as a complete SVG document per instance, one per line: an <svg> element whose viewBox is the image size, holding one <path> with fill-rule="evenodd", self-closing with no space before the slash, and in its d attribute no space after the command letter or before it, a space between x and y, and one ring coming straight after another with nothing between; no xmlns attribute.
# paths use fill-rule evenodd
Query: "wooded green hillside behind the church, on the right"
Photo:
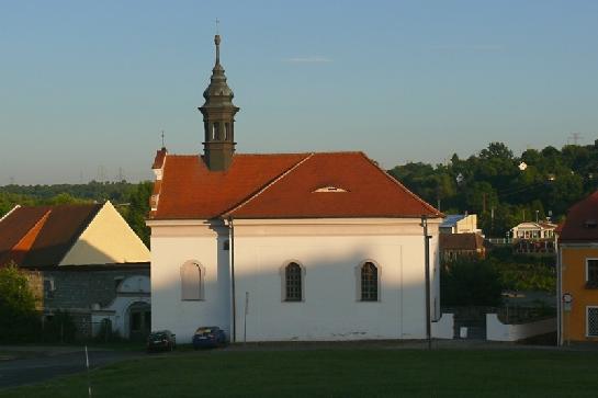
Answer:
<svg viewBox="0 0 598 398"><path fill-rule="evenodd" d="M445 214L478 215L487 237L523 220L560 221L567 208L598 187L598 147L528 149L520 157L503 143L447 164L410 162L390 173Z"/></svg>

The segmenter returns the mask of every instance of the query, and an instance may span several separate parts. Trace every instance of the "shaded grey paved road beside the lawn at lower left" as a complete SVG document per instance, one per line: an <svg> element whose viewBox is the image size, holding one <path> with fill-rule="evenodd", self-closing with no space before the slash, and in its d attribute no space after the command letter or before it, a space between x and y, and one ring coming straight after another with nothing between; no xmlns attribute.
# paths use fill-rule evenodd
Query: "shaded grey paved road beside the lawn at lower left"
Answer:
<svg viewBox="0 0 598 398"><path fill-rule="evenodd" d="M90 351L90 367L106 365L139 355L126 351ZM30 354L30 357L0 356L0 389L46 380L52 377L86 371L86 354L80 351Z"/></svg>

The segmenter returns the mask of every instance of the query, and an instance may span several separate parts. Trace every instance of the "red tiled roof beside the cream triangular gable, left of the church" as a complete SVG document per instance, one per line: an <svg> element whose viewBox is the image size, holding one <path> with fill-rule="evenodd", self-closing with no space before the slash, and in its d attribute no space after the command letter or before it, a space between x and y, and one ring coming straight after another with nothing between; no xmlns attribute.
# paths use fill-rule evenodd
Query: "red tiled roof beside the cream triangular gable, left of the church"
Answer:
<svg viewBox="0 0 598 398"><path fill-rule="evenodd" d="M0 266L55 266L95 217L101 204L23 206L0 221Z"/></svg>

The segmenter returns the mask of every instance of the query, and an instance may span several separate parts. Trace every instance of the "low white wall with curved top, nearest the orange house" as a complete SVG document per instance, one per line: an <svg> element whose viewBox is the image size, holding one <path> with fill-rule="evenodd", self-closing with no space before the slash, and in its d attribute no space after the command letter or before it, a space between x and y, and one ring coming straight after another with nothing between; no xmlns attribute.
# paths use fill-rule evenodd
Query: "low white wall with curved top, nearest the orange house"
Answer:
<svg viewBox="0 0 598 398"><path fill-rule="evenodd" d="M496 314L486 314L486 340L517 341L556 330L556 318L530 323L505 325Z"/></svg>

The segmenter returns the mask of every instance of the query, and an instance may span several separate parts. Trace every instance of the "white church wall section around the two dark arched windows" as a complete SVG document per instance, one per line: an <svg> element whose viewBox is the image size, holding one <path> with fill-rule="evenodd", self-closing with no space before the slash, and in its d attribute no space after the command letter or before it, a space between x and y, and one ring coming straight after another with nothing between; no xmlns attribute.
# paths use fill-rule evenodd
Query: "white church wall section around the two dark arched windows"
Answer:
<svg viewBox="0 0 598 398"><path fill-rule="evenodd" d="M435 234L430 241L432 277L438 269L437 227L430 229ZM384 228L360 235L360 226L345 226L335 236L319 234L318 228L312 226L311 235L287 231L280 236L280 230L270 231L268 226L236 227L237 341L425 338L421 228L414 228L419 234L410 236L384 235ZM358 298L356 268L369 260L380 268L381 299L375 303ZM305 269L301 303L283 302L281 268L290 261ZM436 292L432 304L435 297L439 306Z"/></svg>

